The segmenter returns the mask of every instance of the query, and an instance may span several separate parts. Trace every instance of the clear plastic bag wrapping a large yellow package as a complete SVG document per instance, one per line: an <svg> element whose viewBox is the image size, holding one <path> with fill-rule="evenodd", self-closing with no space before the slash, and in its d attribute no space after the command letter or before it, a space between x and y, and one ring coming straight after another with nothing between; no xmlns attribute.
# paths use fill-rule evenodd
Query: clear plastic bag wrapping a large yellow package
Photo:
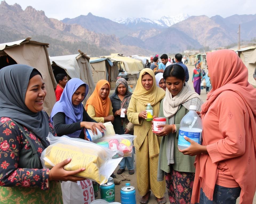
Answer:
<svg viewBox="0 0 256 204"><path fill-rule="evenodd" d="M63 167L65 170L85 168L85 171L76 176L96 181L99 184L107 182L111 172L106 173L106 164L117 151L114 152L93 142L70 138L66 135L54 137L49 133L47 139L50 146L43 150L40 158L44 168L52 168L63 160L71 158L71 162Z"/></svg>

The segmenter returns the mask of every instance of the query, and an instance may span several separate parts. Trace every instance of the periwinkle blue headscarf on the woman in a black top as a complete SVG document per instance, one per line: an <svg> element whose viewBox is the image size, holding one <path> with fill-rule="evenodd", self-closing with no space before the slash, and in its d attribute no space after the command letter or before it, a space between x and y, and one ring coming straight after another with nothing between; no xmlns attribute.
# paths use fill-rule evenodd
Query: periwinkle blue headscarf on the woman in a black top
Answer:
<svg viewBox="0 0 256 204"><path fill-rule="evenodd" d="M82 122L83 120L83 104L80 103L79 105L73 105L72 104L72 96L75 93L75 91L78 89L79 86L85 85L86 91L85 91L85 97L88 93L88 85L84 83L81 79L73 78L70 79L64 90L61 94L61 98L59 101L57 101L53 107L53 110L51 112L51 122L53 123L53 116L55 114L62 112L65 113L65 123L66 124L72 124L74 122ZM83 98L83 100L85 99ZM72 134L68 134L68 136L76 136L79 137L81 133L81 130L75 131Z"/></svg>

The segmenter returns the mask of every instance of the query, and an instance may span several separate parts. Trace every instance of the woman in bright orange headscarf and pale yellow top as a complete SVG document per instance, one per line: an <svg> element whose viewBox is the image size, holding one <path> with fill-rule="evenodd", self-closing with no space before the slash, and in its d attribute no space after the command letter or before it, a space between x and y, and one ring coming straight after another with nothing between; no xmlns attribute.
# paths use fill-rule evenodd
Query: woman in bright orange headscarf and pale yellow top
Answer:
<svg viewBox="0 0 256 204"><path fill-rule="evenodd" d="M113 122L113 108L109 98L110 85L107 80L99 80L93 94L86 102L85 109L97 122Z"/></svg>

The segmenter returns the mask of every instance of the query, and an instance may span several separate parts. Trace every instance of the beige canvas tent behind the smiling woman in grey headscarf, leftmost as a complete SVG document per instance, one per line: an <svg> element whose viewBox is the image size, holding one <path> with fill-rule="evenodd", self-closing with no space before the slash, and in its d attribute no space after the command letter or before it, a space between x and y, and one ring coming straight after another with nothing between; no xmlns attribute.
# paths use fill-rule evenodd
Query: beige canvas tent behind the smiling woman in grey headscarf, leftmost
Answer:
<svg viewBox="0 0 256 204"><path fill-rule="evenodd" d="M23 40L0 44L0 69L12 64L25 64L40 71L47 90L44 110L50 115L56 101L54 88L57 84L48 57L47 47L49 44L30 39L28 37Z"/></svg>

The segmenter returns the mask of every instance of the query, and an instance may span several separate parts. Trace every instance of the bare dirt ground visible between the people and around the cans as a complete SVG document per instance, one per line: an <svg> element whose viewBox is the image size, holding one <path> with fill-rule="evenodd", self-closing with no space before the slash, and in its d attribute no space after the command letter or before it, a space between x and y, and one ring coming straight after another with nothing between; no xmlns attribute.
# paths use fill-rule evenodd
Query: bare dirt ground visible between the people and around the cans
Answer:
<svg viewBox="0 0 256 204"><path fill-rule="evenodd" d="M193 89L193 84L192 84L192 72L193 72L193 69L194 69L194 66L187 66L188 69L189 69L189 81L188 81L188 84L189 86L191 87L192 90ZM135 84L136 82L135 81L131 81L129 82L129 85L133 85L133 90L135 88ZM111 90L111 94L114 92L114 90ZM206 91L205 89L201 90L201 98L203 101L206 101ZM141 198L141 196L139 195L138 193L138 189L137 189L137 179L136 179L136 152L135 152L135 156L134 156L134 159L135 159L135 162L134 162L134 171L135 173L133 175L129 175L131 181L122 181L120 185L115 185L115 202L120 202L121 203L121 197L120 197L120 190L121 190L121 187L125 186L125 183L127 182L130 182L131 186L134 186L135 189L136 189L136 201L137 201L137 204L139 203L139 199ZM120 177L120 175L118 175L116 172L118 170L119 166L117 167L117 169L115 169L115 175L117 175L117 177ZM123 172L123 174L128 174L128 170L126 169L125 172ZM98 192L99 194L99 192ZM169 202L169 199L168 199L168 194L167 194L167 191L165 192L165 197L166 197L166 200L167 202L166 203L170 203ZM100 194L98 195L98 197L96 199L100 199ZM239 203L239 198L237 199L237 204ZM151 196L150 196L150 200L149 200L149 204L157 204L157 201L156 201L156 198L155 196L151 193ZM253 200L253 204L256 204L256 196L254 196L254 200Z"/></svg>

